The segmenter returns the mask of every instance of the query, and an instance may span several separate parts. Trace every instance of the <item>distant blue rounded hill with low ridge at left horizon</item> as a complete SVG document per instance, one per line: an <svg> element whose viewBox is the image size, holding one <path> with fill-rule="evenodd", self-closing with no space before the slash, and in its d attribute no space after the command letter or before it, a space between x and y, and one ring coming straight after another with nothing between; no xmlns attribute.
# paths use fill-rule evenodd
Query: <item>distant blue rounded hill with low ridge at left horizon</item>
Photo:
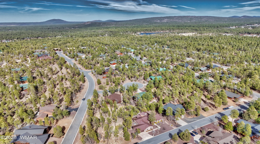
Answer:
<svg viewBox="0 0 260 144"><path fill-rule="evenodd" d="M61 19L51 19L44 22L0 22L0 25L55 25L55 24L80 24L84 22L68 22L66 20Z"/></svg>

